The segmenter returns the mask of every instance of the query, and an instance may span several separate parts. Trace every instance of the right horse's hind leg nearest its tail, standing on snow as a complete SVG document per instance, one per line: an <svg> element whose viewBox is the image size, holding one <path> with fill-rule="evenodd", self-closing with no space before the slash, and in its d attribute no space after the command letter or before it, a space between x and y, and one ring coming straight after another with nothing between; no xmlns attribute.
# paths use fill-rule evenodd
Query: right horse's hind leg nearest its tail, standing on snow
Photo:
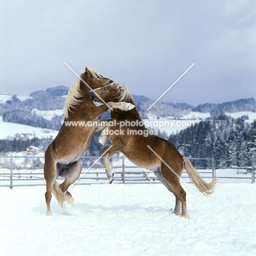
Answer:
<svg viewBox="0 0 256 256"><path fill-rule="evenodd" d="M162 177L166 179L167 183L173 189L178 199L181 201L181 205L182 205L181 216L189 219L189 214L188 214L187 205L186 205L186 192L182 188L181 184L179 183L179 178L164 163L162 163L161 165L161 174L162 174ZM178 210L178 206L177 206L177 210Z"/></svg>

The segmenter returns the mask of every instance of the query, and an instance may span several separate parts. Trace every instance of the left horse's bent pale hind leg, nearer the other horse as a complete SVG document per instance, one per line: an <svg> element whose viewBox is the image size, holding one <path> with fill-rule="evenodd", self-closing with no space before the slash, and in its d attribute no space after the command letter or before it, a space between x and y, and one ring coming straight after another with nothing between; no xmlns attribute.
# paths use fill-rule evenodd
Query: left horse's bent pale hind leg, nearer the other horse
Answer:
<svg viewBox="0 0 256 256"><path fill-rule="evenodd" d="M65 181L62 184L60 184L60 190L63 193L63 197L58 200L62 207L63 207L64 201L67 201L69 205L73 206L74 199L67 190L71 184L77 181L81 171L82 171L82 166L78 161L75 161L75 162L72 162L71 166L67 171L60 174L61 177L65 177Z"/></svg>

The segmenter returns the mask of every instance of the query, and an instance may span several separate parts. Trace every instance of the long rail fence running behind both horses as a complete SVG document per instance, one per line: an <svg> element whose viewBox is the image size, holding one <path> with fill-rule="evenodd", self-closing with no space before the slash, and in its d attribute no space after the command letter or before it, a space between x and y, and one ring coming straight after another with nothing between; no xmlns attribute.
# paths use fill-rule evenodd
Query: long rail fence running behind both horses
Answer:
<svg viewBox="0 0 256 256"><path fill-rule="evenodd" d="M83 156L80 159L82 174L88 170L97 158L97 156ZM154 172L133 165L125 156L112 157L111 161L115 169L114 183L159 183ZM232 166L230 160L215 160L214 158L190 158L190 161L204 179L218 176L219 180L241 179L241 181L251 180L251 183L255 182L254 161L241 161L243 167ZM216 169L216 165L220 161L227 163L226 166L222 167L221 172ZM12 154L10 156L0 156L0 187L44 185L43 165L43 156L15 156ZM59 178L60 182L61 179L63 178ZM182 179L185 182L190 182L185 171L182 174ZM77 184L92 183L108 183L102 161L98 161L93 168L90 168L90 171L86 172Z"/></svg>

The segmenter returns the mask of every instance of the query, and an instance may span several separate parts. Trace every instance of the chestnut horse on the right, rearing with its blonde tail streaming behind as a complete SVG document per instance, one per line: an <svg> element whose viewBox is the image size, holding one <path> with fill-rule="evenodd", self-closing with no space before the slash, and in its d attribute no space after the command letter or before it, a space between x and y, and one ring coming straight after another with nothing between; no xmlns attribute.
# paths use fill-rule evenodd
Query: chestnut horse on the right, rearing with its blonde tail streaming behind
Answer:
<svg viewBox="0 0 256 256"><path fill-rule="evenodd" d="M136 106L127 88L119 83L112 83L103 86L103 88L92 90L90 95L92 100L96 102L101 102L101 99L98 97L100 96L104 101L126 101ZM153 171L159 181L176 198L173 213L189 218L186 193L179 182L183 166L190 180L204 195L210 195L214 192L216 181L212 179L210 183L205 182L190 160L181 155L172 143L152 134L154 131L149 131L144 126L137 107L129 112L113 109L110 114L112 123L119 124L119 127L108 126L102 131L100 137L102 146L106 143L107 136L109 136L111 142L102 150L104 167L109 182L112 182L114 177L114 170L110 164L109 157L120 151L135 165Z"/></svg>

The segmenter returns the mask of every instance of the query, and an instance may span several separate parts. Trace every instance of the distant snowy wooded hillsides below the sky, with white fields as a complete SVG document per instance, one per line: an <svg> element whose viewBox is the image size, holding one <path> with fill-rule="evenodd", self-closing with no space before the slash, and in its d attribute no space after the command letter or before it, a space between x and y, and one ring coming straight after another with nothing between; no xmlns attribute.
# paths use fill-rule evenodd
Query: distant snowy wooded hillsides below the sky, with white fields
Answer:
<svg viewBox="0 0 256 256"><path fill-rule="evenodd" d="M59 130L63 121L62 108L65 105L67 92L68 88L66 86L57 86L44 91L32 92L27 97L1 94L0 115L2 115L4 122L0 120L0 138L14 136L16 133L24 133L27 130L32 130L32 132L39 132L43 128ZM146 109L153 104L153 100L135 95L133 95L133 98L144 121L173 121L172 126L150 125L150 129L164 132L166 138L190 126L189 124L178 125L179 120L193 120L194 124L197 124L200 120L214 118L213 115L215 114L225 114L232 118L246 116L246 119L248 116L249 120L246 120L246 123L251 123L256 119L256 100L254 98L222 104L206 103L195 108L185 103L157 102L149 111L146 111ZM241 111L235 112L237 109ZM228 111L224 112L224 110ZM106 118L109 117L106 115ZM28 125L36 127L28 128ZM42 129L37 126L42 127Z"/></svg>

